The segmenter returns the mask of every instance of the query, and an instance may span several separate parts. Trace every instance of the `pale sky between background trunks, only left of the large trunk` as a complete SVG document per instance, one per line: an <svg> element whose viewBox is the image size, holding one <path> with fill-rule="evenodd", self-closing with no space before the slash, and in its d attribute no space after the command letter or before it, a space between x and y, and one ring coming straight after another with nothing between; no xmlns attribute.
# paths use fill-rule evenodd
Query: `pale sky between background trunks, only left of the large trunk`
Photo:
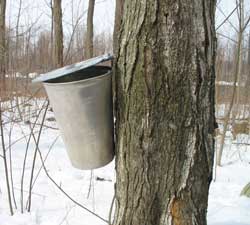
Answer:
<svg viewBox="0 0 250 225"><path fill-rule="evenodd" d="M51 11L50 0L23 0L20 25L28 27L36 22L36 27L42 26L50 30ZM114 19L115 0L97 0L94 14L94 27L96 33L103 31L112 32ZM10 27L15 27L19 8L19 0L7 1L6 23ZM67 33L76 22L78 17L82 17L80 25L86 24L88 1L85 0L62 0L63 27ZM39 18L39 19L38 19ZM24 29L25 30L25 29Z"/></svg>

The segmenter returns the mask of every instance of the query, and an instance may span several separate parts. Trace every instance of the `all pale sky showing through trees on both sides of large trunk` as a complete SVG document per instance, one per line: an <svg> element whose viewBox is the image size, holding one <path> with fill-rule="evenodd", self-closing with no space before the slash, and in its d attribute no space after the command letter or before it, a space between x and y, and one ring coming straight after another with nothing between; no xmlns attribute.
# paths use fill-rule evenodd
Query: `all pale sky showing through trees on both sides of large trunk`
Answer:
<svg viewBox="0 0 250 225"><path fill-rule="evenodd" d="M50 30L51 12L48 7L50 0L23 0L20 25L25 31L27 27L36 22L35 27L42 28L41 30ZM225 19L226 16L235 7L235 0L218 0L216 11L217 26ZM82 17L79 25L86 25L88 1L85 0L63 0L63 28L64 34L70 34L72 30L72 22L75 23L77 18ZM6 22L14 28L16 25L18 14L19 0L7 1ZM245 17L250 16L250 0L245 0ZM94 33L112 33L114 23L115 0L97 0L94 13ZM85 13L84 13L85 12ZM72 21L73 14L73 21ZM237 13L230 18L230 22L237 27ZM19 28L20 32L22 30ZM226 22L219 30L231 38L235 36L235 31L229 22Z"/></svg>

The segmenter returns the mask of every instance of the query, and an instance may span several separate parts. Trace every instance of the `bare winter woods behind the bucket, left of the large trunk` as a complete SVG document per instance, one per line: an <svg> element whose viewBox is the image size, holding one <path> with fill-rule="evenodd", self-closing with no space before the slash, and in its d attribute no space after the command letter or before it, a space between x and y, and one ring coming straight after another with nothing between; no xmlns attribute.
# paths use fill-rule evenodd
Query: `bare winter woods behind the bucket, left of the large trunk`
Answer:
<svg viewBox="0 0 250 225"><path fill-rule="evenodd" d="M10 4L15 10L12 7L6 14ZM89 4L46 0L45 8L38 9L40 14L26 21L32 3L0 0L0 95L10 98L13 94L32 94L29 84L34 76L112 52L111 29L94 32L95 4L95 0L89 0ZM46 18L44 26L42 16Z"/></svg>

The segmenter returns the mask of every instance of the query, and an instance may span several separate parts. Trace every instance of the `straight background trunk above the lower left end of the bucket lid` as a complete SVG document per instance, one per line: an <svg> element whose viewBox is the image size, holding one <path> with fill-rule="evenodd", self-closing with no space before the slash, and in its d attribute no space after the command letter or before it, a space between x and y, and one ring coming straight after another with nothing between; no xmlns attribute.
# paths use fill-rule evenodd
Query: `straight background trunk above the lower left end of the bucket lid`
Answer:
<svg viewBox="0 0 250 225"><path fill-rule="evenodd" d="M54 63L55 67L63 66L63 27L61 0L54 0Z"/></svg>

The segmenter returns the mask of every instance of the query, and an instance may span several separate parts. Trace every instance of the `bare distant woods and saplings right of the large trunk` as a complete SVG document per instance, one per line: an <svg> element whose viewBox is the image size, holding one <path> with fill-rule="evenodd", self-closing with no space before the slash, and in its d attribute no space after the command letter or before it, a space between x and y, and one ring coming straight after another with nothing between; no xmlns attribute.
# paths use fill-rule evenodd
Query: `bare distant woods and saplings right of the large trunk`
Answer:
<svg viewBox="0 0 250 225"><path fill-rule="evenodd" d="M244 0L236 1L238 24L234 26L227 22L235 30L235 38L230 38L219 43L217 49L217 82L216 103L217 120L220 126L220 141L217 149L216 164L222 165L222 154L226 139L226 132L236 138L237 134L249 134L250 127L250 36L247 28L250 16L246 16ZM218 35L221 35L218 32ZM221 110L221 107L224 107ZM235 134L235 127L239 133ZM239 129L240 128L240 129Z"/></svg>

